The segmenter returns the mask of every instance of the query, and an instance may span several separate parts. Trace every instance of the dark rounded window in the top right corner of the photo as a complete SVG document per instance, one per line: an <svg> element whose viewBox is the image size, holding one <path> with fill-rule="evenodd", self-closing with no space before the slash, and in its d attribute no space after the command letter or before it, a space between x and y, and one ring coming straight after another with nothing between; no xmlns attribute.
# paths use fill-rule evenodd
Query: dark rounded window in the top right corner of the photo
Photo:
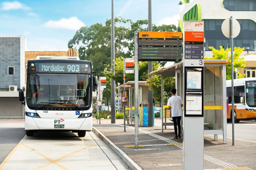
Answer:
<svg viewBox="0 0 256 170"><path fill-rule="evenodd" d="M229 11L256 11L255 0L224 0L223 5Z"/></svg>

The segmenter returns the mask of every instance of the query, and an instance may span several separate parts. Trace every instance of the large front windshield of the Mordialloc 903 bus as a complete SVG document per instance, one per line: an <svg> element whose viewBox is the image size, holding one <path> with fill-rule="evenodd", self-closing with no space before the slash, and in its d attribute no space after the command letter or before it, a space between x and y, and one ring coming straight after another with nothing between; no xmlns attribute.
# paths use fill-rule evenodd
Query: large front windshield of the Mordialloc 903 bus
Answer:
<svg viewBox="0 0 256 170"><path fill-rule="evenodd" d="M28 74L27 105L30 109L89 109L90 74ZM86 108L89 107L89 108Z"/></svg>

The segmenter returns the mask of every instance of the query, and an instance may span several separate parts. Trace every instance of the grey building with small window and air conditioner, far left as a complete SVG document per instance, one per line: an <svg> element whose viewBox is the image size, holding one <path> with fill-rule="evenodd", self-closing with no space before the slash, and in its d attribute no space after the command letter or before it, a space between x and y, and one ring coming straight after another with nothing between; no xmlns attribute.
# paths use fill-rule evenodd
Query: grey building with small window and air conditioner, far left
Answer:
<svg viewBox="0 0 256 170"><path fill-rule="evenodd" d="M25 87L25 47L22 35L0 36L0 118L23 118L19 90Z"/></svg>

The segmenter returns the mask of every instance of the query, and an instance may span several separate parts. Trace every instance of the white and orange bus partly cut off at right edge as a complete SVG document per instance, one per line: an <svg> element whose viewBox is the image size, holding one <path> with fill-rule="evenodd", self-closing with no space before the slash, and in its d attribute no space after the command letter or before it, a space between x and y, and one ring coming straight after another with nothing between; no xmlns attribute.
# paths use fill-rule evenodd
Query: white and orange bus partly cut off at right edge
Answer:
<svg viewBox="0 0 256 170"><path fill-rule="evenodd" d="M231 80L227 80L227 119L231 118L232 88ZM234 79L234 120L256 120L256 78Z"/></svg>

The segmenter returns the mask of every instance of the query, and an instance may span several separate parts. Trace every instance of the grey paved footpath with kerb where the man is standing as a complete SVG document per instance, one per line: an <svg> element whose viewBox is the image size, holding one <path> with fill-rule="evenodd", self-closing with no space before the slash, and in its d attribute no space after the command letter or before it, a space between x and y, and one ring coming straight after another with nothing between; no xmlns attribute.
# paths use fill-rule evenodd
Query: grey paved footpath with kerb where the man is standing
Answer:
<svg viewBox="0 0 256 170"><path fill-rule="evenodd" d="M101 124L93 120L94 132L108 144L112 150L130 169L166 169L181 170L183 161L183 139L173 139L173 126L167 130L160 126L160 119L155 119L155 127L139 127L139 148L134 148L134 126L126 125L124 132L123 120L111 124L110 119L101 120ZM238 141L232 146L222 140L214 141L213 137L204 137L204 169L215 170L256 170L256 143ZM130 159L130 160L129 160ZM130 163L129 163L130 161ZM128 163L127 163L128 162ZM139 166L139 167L138 167ZM137 168L136 168L137 167Z"/></svg>

